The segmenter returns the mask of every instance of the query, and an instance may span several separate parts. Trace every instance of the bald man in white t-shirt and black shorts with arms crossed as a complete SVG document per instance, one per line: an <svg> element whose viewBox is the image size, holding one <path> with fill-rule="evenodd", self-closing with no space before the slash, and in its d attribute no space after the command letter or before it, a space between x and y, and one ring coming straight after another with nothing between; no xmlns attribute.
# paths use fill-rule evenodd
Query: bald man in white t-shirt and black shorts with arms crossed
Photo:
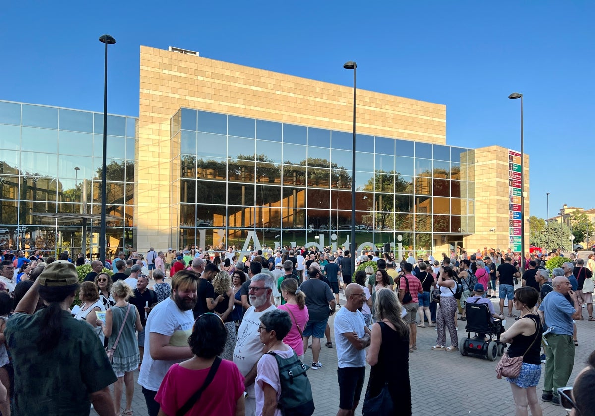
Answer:
<svg viewBox="0 0 595 416"><path fill-rule="evenodd" d="M334 320L335 342L339 370L339 412L337 416L352 416L359 404L366 375L366 350L371 332L359 310L366 300L364 288L349 283L345 288L347 302Z"/></svg>

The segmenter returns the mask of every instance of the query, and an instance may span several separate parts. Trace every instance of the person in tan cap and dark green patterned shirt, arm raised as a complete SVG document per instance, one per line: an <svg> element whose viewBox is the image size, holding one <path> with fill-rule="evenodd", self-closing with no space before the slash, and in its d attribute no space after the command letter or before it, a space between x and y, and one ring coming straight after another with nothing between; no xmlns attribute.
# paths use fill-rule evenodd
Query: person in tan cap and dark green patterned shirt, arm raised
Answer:
<svg viewBox="0 0 595 416"><path fill-rule="evenodd" d="M45 267L8 321L4 335L14 363L14 407L20 415L113 416L114 371L95 330L72 319L79 289L74 264ZM35 311L39 298L47 307ZM92 371L90 371L92 370Z"/></svg>

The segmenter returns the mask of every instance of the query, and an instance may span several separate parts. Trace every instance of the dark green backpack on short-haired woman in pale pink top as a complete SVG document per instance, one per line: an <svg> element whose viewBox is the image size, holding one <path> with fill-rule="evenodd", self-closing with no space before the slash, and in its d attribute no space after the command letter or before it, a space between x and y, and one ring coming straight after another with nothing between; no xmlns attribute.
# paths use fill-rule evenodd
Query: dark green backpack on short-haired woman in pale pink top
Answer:
<svg viewBox="0 0 595 416"><path fill-rule="evenodd" d="M283 416L311 416L314 413L312 386L308 379L308 366L303 364L295 351L290 358L281 358L275 352L268 352L277 360L281 396L277 407Z"/></svg>

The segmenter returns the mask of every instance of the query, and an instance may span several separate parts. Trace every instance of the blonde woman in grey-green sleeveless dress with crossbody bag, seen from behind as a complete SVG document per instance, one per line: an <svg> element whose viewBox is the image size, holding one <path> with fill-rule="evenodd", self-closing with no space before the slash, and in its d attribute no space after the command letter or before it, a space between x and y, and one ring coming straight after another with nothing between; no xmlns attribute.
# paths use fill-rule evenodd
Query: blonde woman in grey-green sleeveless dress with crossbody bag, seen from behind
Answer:
<svg viewBox="0 0 595 416"><path fill-rule="evenodd" d="M116 281L111 288L115 304L105 312L105 323L101 324L104 335L109 338L108 349L115 351L112 357L112 370L118 377L114 383L115 414L131 416L134 396L134 370L139 368L139 345L136 331L142 331L140 314L136 306L128 302L133 296L132 288L124 281ZM112 336L114 334L114 336ZM117 341L117 344L115 343ZM126 408L120 412L123 384L126 384Z"/></svg>

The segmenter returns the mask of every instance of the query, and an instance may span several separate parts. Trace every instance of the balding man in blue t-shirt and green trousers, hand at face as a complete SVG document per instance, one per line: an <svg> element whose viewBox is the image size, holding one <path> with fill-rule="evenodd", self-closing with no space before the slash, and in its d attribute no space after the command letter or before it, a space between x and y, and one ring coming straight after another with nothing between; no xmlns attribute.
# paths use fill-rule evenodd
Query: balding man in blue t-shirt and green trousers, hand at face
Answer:
<svg viewBox="0 0 595 416"><path fill-rule="evenodd" d="M550 329L545 335L546 376L543 383L544 402L560 405L558 388L565 387L574 365L574 342L572 341L572 320L580 316L581 305L571 283L565 276L558 276L552 282L553 291L543 299L539 307L542 322ZM569 295L569 302L566 295Z"/></svg>

